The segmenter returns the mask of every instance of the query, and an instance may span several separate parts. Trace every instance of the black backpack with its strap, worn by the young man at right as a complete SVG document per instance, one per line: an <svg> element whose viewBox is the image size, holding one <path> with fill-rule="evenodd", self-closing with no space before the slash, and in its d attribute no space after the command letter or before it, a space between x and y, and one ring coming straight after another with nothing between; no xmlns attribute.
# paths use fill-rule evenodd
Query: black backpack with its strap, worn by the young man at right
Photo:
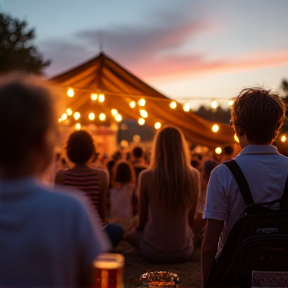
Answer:
<svg viewBox="0 0 288 288"><path fill-rule="evenodd" d="M288 287L288 177L281 199L256 204L237 162L223 164L240 188L245 215L231 229L205 287Z"/></svg>

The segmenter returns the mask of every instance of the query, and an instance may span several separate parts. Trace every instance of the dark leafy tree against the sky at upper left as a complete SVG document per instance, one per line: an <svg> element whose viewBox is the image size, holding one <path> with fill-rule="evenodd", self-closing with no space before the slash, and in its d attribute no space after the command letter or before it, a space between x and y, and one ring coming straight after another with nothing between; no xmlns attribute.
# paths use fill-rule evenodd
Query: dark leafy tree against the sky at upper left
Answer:
<svg viewBox="0 0 288 288"><path fill-rule="evenodd" d="M0 13L0 74L14 70L43 74L50 64L33 45L34 29L10 15Z"/></svg>

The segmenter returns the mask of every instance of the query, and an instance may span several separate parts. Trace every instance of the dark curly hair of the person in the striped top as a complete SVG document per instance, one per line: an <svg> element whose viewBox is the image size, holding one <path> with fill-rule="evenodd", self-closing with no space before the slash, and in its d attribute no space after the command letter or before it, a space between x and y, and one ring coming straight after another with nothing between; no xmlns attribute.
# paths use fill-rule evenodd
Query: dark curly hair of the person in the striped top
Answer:
<svg viewBox="0 0 288 288"><path fill-rule="evenodd" d="M92 136L84 130L69 136L66 151L69 160L76 164L86 163L96 152Z"/></svg>

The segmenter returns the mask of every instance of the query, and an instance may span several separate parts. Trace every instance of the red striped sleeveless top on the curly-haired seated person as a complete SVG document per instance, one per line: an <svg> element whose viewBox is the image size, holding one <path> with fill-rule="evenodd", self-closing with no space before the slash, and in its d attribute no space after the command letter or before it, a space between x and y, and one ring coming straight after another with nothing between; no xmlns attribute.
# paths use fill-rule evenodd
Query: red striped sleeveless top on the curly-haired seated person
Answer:
<svg viewBox="0 0 288 288"><path fill-rule="evenodd" d="M73 186L84 192L85 196L98 211L98 203L102 185L100 183L97 170L91 170L85 173L75 173L71 169L64 172L63 185Z"/></svg>

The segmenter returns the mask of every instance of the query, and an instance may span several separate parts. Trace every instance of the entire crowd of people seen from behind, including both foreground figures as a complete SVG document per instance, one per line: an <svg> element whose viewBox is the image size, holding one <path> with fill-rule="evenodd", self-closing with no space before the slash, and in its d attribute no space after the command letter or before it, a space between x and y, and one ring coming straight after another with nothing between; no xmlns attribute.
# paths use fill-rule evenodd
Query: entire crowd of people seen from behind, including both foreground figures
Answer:
<svg viewBox="0 0 288 288"><path fill-rule="evenodd" d="M69 135L66 159L53 155L53 94L40 78L13 75L0 84L1 287L91 287L93 259L121 240L156 263L190 261L202 245L205 283L244 210L221 163L236 159L256 202L281 196L288 158L272 143L285 106L271 91L250 88L236 98L240 153L233 145L221 158L190 151L181 130L166 126L149 157L136 145L129 157L119 150L101 165L85 130ZM46 185L40 179L53 159L59 165Z"/></svg>

